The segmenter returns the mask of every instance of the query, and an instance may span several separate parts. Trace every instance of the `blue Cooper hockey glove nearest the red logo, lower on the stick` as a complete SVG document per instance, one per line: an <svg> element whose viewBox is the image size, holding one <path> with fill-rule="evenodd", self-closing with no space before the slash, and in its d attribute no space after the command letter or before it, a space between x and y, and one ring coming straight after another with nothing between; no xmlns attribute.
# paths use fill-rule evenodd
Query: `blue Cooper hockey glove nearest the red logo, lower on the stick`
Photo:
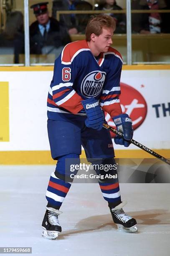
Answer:
<svg viewBox="0 0 170 256"><path fill-rule="evenodd" d="M130 140L133 137L133 126L131 118L129 118L129 115L127 114L121 114L115 116L113 120L117 131L120 131L124 135L124 138L119 136L114 137L114 143L128 147L130 145Z"/></svg>

